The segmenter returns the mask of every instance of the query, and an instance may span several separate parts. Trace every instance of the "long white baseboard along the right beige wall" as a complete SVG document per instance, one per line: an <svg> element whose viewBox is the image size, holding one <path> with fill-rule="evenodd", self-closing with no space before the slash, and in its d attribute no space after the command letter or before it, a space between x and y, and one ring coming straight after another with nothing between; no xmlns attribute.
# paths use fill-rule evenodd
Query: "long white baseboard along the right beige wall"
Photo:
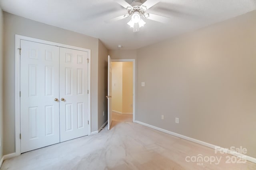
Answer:
<svg viewBox="0 0 256 170"><path fill-rule="evenodd" d="M228 150L226 148L222 148L222 147L219 147L219 146L216 146L214 144L209 144L207 142L203 142L201 140L197 140L197 139L194 139L194 138L190 138L188 136L184 136L184 135L181 135L181 134L177 134L177 133L174 133L174 132L171 132L169 130L165 130L165 129L162 129L162 128L158 128L156 126L152 126L150 124L146 124L146 123L143 123L143 122L140 122L140 121L137 121L135 120L135 123L138 123L138 124L141 124L141 125L144 125L144 126L147 126L149 128L152 128L152 129L155 129L155 130L159 130L161 132L164 132L164 133L167 133L167 134L170 134L170 135L173 135L173 136L177 136L179 138L182 138L182 139L185 139L185 140L188 140L188 141L191 141L191 142L194 142L194 143L197 143L197 144L200 144L200 145L203 145L203 146L207 146L208 148L212 148L212 149L215 149L215 148L219 148L218 150L221 150L221 151L225 151L226 153L230 154L230 155L234 155L234 156L237 156L237 157L240 157L240 158L246 158L246 160L250 161L250 162L253 162L253 163L256 163L256 158L253 158L251 156L247 156L247 155L244 155L244 154L240 154L238 152L234 152L232 150Z"/></svg>

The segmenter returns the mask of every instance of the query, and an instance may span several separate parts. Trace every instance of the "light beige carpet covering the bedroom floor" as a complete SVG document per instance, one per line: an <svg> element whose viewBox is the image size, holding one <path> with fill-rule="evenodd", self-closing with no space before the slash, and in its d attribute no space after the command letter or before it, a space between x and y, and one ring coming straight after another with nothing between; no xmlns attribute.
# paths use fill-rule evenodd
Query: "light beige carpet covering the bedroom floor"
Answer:
<svg viewBox="0 0 256 170"><path fill-rule="evenodd" d="M218 156L219 164L187 162L186 156ZM256 164L226 163L228 154L132 122L111 130L26 152L0 170L256 170Z"/></svg>

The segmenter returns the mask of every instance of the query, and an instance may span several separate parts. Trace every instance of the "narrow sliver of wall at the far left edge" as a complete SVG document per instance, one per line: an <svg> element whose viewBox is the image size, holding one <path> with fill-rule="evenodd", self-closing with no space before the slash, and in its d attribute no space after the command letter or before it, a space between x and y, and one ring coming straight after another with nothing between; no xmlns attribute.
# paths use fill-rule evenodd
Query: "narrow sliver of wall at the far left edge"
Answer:
<svg viewBox="0 0 256 170"><path fill-rule="evenodd" d="M0 159L3 156L3 12L0 8Z"/></svg>

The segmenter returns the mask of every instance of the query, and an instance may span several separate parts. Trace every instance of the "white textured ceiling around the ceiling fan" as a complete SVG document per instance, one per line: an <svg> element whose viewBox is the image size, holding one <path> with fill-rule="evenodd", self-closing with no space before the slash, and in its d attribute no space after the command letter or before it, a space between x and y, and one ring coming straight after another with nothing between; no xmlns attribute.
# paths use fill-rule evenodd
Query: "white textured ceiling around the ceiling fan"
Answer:
<svg viewBox="0 0 256 170"><path fill-rule="evenodd" d="M18 16L100 38L108 49L117 49L118 44L137 49L255 10L256 0L161 0L147 12L167 16L170 22L144 19L140 32L132 32L126 24L129 18L104 22L127 13L114 0L0 0L0 6Z"/></svg>

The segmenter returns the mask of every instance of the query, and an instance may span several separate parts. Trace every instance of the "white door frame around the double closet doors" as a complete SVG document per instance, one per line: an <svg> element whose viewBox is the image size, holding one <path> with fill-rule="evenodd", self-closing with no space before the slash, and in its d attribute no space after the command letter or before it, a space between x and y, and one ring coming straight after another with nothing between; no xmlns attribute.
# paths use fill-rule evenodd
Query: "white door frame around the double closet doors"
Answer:
<svg viewBox="0 0 256 170"><path fill-rule="evenodd" d="M89 63L88 63L88 90L89 90L88 135L91 135L91 50L15 34L15 155L14 156L18 156L21 154L21 150L20 150L21 149L21 146L20 146L20 142L21 142L20 140L20 40L26 40L31 42L37 42L37 43L48 44L52 46L58 46L58 47L64 47L64 48L70 48L74 50L88 52L88 59L89 59Z"/></svg>

